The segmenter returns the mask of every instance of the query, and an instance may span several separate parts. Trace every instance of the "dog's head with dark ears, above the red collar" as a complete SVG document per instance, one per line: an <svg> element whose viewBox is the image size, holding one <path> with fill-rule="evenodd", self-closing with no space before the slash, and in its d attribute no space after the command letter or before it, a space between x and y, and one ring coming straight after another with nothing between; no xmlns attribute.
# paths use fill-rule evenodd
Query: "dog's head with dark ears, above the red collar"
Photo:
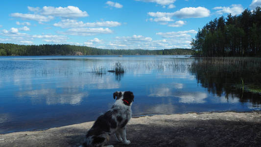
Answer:
<svg viewBox="0 0 261 147"><path fill-rule="evenodd" d="M117 91L113 93L113 98L115 99L116 97L117 97L116 100L122 98L122 100L125 101L124 103L126 103L127 105L130 105L134 101L134 95L133 92L131 91L125 91L125 92Z"/></svg>

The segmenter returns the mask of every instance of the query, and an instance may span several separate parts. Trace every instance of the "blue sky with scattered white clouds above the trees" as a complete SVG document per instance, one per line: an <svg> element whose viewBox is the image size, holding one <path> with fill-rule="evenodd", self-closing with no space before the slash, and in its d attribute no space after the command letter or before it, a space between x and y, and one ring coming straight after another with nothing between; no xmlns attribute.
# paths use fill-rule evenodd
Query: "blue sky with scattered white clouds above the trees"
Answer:
<svg viewBox="0 0 261 147"><path fill-rule="evenodd" d="M0 43L191 48L199 28L261 0L2 0Z"/></svg>

